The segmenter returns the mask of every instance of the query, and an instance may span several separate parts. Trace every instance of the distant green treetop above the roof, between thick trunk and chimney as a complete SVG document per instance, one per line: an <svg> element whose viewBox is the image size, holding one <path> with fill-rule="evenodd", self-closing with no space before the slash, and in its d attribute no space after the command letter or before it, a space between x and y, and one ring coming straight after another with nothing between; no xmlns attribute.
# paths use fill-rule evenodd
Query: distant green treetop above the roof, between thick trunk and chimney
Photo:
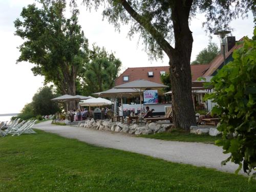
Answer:
<svg viewBox="0 0 256 192"><path fill-rule="evenodd" d="M204 48L197 55L196 60L191 62L191 65L202 65L210 63L218 54L220 49L214 42L209 42L207 48Z"/></svg>

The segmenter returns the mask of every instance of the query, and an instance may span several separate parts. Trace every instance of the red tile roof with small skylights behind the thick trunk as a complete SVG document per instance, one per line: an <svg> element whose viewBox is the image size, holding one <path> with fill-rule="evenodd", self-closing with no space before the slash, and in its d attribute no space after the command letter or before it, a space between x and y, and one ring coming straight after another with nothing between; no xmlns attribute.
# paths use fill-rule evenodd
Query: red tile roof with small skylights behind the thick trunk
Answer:
<svg viewBox="0 0 256 192"><path fill-rule="evenodd" d="M203 76L203 73L209 68L209 65L193 65L191 66L192 80L197 80L198 77ZM148 77L147 72L153 72L154 77ZM123 76L129 76L129 81L138 79L145 79L157 83L161 83L160 71L169 72L169 66L163 67L138 67L138 68L127 68L115 81L116 86L123 84L127 81L123 81Z"/></svg>

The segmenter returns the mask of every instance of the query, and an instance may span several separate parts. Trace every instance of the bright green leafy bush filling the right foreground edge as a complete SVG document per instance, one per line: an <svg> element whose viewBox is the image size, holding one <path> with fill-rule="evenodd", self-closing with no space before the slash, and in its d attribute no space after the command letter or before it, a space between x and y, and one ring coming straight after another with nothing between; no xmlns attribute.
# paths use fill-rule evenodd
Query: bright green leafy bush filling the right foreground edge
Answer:
<svg viewBox="0 0 256 192"><path fill-rule="evenodd" d="M212 113L221 117L218 130L223 140L216 144L231 154L223 164L232 161L239 169L243 164L244 172L250 174L256 169L256 28L253 39L244 37L243 47L233 52L233 58L207 85L215 92L204 99L218 103Z"/></svg>

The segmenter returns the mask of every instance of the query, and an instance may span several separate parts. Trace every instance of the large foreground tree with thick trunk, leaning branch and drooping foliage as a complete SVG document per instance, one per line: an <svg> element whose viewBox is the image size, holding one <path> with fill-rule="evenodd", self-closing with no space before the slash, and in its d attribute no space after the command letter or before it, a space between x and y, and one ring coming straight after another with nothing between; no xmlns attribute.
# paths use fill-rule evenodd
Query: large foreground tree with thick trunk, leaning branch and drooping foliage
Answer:
<svg viewBox="0 0 256 192"><path fill-rule="evenodd" d="M73 0L74 2L75 0ZM193 36L189 20L205 13L203 25L211 33L227 29L230 20L252 9L253 0L83 0L88 6L104 5L103 16L118 29L131 24L130 35L139 33L151 58L169 58L174 123L186 130L196 124L191 95L190 56Z"/></svg>

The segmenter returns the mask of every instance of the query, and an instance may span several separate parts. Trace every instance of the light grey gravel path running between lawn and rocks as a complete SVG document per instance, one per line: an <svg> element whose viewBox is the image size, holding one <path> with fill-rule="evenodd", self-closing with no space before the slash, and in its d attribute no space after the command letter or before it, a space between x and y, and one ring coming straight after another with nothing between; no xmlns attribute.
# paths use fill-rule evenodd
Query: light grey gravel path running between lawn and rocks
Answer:
<svg viewBox="0 0 256 192"><path fill-rule="evenodd" d="M226 159L228 155L222 153L221 147L213 144L133 137L116 132L91 130L84 127L52 125L51 121L38 123L34 127L62 137L78 139L97 146L148 155L166 161L216 168L231 173L238 167L238 165L233 163L221 166L221 161Z"/></svg>

